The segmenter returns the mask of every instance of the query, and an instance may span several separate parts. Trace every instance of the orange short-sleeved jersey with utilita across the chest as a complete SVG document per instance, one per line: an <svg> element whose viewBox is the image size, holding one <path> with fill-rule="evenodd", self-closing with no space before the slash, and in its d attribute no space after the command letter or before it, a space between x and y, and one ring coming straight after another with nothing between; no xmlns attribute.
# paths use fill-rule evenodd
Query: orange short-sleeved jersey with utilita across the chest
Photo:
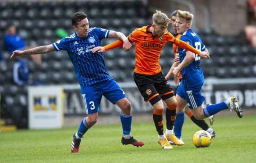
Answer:
<svg viewBox="0 0 256 163"><path fill-rule="evenodd" d="M161 71L159 64L160 53L168 42L173 43L175 38L167 30L162 36L153 35L149 26L137 28L128 39L135 42L135 68L134 72L138 74L154 75Z"/></svg>

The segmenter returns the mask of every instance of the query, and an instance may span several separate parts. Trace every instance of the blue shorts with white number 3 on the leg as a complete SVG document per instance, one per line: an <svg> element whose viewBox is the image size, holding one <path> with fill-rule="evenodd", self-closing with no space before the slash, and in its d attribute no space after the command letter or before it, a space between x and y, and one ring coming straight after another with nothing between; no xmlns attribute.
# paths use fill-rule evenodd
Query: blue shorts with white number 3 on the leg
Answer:
<svg viewBox="0 0 256 163"><path fill-rule="evenodd" d="M82 88L81 93L87 114L96 113L100 110L102 96L105 96L113 104L126 97L123 89L113 78Z"/></svg>

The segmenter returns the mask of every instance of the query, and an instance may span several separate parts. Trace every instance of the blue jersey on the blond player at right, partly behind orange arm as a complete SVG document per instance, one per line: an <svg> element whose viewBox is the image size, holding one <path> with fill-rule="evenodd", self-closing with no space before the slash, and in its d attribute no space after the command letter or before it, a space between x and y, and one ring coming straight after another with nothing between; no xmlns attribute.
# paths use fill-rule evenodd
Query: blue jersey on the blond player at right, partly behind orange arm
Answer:
<svg viewBox="0 0 256 163"><path fill-rule="evenodd" d="M188 29L186 32L184 32L183 35L181 35L180 39L199 51L204 51L206 49L199 35L195 33L192 29ZM180 62L184 60L186 56L186 51L187 50L178 47ZM203 71L200 66L200 56L198 54L195 55L195 60L193 60L192 63L185 68L181 69L181 83L184 87L199 85L202 84L204 81Z"/></svg>

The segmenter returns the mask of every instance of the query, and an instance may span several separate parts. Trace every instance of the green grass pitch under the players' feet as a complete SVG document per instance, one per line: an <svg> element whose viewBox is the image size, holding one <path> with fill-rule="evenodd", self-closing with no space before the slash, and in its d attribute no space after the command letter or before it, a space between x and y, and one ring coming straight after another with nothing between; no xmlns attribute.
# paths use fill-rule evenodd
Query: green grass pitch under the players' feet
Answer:
<svg viewBox="0 0 256 163"><path fill-rule="evenodd" d="M153 121L132 124L132 135L145 143L139 148L121 144L121 124L96 124L85 134L78 153L70 149L77 128L0 133L0 163L255 162L255 119L256 115L215 117L212 127L217 135L208 148L193 145L192 137L200 128L188 118L182 133L185 145L173 145L174 149L162 149L157 143Z"/></svg>

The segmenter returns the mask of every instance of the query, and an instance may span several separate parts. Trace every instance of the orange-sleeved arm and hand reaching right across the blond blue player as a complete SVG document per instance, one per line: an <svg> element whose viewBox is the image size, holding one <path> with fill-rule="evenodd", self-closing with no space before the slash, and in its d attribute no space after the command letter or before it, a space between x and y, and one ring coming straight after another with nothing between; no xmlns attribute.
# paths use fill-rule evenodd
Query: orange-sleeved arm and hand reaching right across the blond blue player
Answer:
<svg viewBox="0 0 256 163"><path fill-rule="evenodd" d="M208 53L206 51L201 52L199 50L196 50L194 47L190 46L188 43L186 43L180 39L176 39L174 44L179 46L181 49L185 49L185 50L191 51L193 53L196 53L202 58L210 58L210 53Z"/></svg>

